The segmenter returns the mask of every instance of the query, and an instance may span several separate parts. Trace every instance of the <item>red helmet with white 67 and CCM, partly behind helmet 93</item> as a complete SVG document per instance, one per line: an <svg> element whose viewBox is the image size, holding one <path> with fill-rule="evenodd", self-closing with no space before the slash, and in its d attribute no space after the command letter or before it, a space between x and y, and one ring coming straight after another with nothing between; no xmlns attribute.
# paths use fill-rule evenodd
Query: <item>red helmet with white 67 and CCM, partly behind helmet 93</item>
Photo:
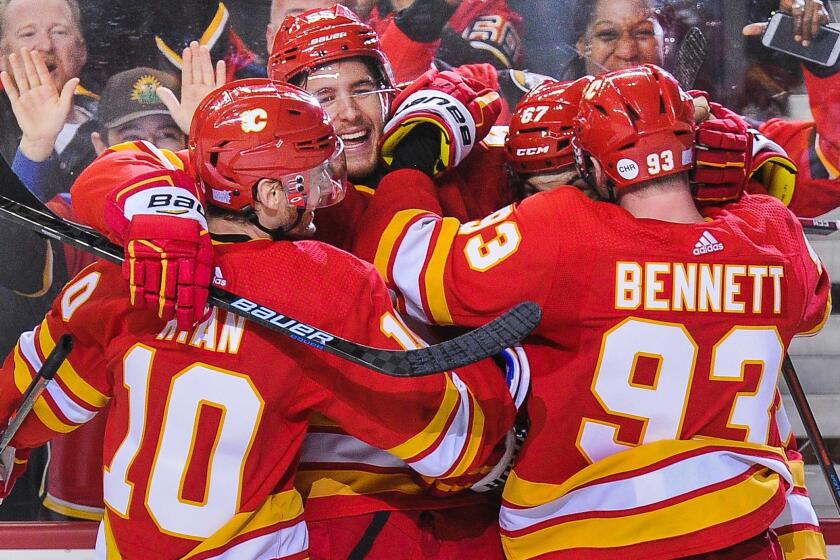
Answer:
<svg viewBox="0 0 840 560"><path fill-rule="evenodd" d="M546 82L528 93L511 117L505 151L518 173L556 171L575 163L574 119L591 76Z"/></svg>

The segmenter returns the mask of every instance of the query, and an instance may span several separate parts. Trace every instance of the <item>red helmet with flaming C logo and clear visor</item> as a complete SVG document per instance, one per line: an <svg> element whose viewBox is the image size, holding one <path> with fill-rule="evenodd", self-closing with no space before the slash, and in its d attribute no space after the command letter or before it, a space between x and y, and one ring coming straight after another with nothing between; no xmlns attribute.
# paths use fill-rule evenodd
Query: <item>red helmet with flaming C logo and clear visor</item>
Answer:
<svg viewBox="0 0 840 560"><path fill-rule="evenodd" d="M335 204L346 189L344 149L318 101L264 78L230 82L202 100L189 157L208 203L246 215L263 178L279 181L299 210Z"/></svg>

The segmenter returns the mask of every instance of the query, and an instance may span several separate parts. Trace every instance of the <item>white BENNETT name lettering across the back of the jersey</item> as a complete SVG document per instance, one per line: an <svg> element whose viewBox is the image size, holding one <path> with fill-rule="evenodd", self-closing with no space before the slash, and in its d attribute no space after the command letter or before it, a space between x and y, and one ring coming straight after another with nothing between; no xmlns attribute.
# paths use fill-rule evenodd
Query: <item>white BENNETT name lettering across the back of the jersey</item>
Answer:
<svg viewBox="0 0 840 560"><path fill-rule="evenodd" d="M615 309L780 315L785 268L768 264L615 263Z"/></svg>

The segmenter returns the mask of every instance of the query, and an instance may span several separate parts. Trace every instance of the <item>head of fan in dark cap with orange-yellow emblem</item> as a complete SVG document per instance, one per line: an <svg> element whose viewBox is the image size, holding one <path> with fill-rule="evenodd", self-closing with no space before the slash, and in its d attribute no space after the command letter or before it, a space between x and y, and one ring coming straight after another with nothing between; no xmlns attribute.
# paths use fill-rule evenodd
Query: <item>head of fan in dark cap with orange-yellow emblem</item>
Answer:
<svg viewBox="0 0 840 560"><path fill-rule="evenodd" d="M186 147L186 136L169 114L156 90L176 89L176 79L152 68L133 68L108 79L96 117L98 131L91 133L97 154L122 142L146 140L159 148L177 151Z"/></svg>

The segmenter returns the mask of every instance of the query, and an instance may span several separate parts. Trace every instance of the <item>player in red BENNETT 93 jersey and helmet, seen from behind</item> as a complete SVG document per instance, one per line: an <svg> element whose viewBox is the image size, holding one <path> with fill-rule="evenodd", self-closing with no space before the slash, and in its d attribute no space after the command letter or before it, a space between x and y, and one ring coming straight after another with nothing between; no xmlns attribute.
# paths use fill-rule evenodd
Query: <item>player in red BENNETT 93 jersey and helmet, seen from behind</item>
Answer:
<svg viewBox="0 0 840 560"><path fill-rule="evenodd" d="M586 88L575 125L582 176L615 203L560 188L457 224L410 170L371 201L357 249L412 317L475 325L522 297L546 310L525 344L509 558L781 555L769 527L794 477L776 381L791 338L826 320L830 283L775 199L698 210L693 134L670 75L619 71Z"/></svg>

